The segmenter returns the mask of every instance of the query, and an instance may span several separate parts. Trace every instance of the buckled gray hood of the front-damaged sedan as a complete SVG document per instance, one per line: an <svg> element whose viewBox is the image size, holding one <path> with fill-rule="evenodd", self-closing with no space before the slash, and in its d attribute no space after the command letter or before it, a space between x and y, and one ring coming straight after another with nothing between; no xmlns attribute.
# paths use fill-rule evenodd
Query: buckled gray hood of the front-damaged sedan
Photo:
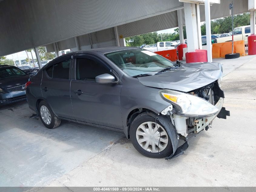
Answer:
<svg viewBox="0 0 256 192"><path fill-rule="evenodd" d="M177 69L138 77L145 86L188 92L206 86L222 76L221 63L184 63Z"/></svg>

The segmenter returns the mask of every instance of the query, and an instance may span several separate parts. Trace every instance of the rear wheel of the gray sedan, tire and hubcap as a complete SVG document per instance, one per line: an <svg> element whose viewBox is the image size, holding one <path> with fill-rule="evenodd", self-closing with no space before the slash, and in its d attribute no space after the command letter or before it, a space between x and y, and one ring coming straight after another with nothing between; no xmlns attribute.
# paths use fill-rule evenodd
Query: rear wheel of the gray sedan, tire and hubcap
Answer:
<svg viewBox="0 0 256 192"><path fill-rule="evenodd" d="M53 113L52 109L45 101L41 101L38 106L38 112L42 123L48 128L53 129L58 127L61 123L61 119L59 119Z"/></svg>

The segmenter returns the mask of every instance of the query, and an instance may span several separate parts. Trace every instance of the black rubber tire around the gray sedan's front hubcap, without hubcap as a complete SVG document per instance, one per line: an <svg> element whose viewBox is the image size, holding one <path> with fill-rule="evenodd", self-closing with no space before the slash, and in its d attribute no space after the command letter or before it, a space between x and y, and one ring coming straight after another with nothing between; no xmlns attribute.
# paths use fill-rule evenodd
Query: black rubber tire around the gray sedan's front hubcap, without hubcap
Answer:
<svg viewBox="0 0 256 192"><path fill-rule="evenodd" d="M167 119L166 119L167 120ZM140 144L137 141L136 138L136 131L137 128L144 122L155 122L155 118L148 115L147 113L141 113L139 114L131 123L131 127L130 127L130 139L131 139L131 143L133 144L133 146L135 147L136 150L138 150L138 152L140 152L142 155L145 155L146 157L151 157L151 158L164 158L164 157L168 157L172 152L173 152L173 148L172 148L172 143L171 143L171 139L170 136L168 135L168 144L166 146L166 148L162 151L160 151L159 153L152 153L149 151L146 151L145 149L143 149ZM167 120L168 121L168 120ZM161 125L162 128L165 129L166 128L158 121L156 120L156 123ZM167 132L167 131L166 131ZM168 134L168 132L167 132Z"/></svg>

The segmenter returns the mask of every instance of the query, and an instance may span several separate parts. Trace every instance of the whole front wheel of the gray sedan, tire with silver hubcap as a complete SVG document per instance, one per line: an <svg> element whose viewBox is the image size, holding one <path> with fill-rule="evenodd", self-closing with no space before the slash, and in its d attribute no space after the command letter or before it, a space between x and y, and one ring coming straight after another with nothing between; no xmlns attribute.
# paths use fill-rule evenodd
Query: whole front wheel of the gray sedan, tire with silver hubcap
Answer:
<svg viewBox="0 0 256 192"><path fill-rule="evenodd" d="M173 151L166 128L147 113L141 113L133 120L130 138L135 149L147 157L163 158Z"/></svg>

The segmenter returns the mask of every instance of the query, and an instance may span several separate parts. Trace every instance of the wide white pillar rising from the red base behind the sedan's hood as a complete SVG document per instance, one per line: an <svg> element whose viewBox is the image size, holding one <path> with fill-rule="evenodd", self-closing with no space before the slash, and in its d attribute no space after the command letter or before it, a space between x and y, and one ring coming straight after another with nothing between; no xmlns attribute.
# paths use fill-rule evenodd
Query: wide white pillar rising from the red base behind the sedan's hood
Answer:
<svg viewBox="0 0 256 192"><path fill-rule="evenodd" d="M195 4L184 3L185 24L188 42L188 52L198 49Z"/></svg>

